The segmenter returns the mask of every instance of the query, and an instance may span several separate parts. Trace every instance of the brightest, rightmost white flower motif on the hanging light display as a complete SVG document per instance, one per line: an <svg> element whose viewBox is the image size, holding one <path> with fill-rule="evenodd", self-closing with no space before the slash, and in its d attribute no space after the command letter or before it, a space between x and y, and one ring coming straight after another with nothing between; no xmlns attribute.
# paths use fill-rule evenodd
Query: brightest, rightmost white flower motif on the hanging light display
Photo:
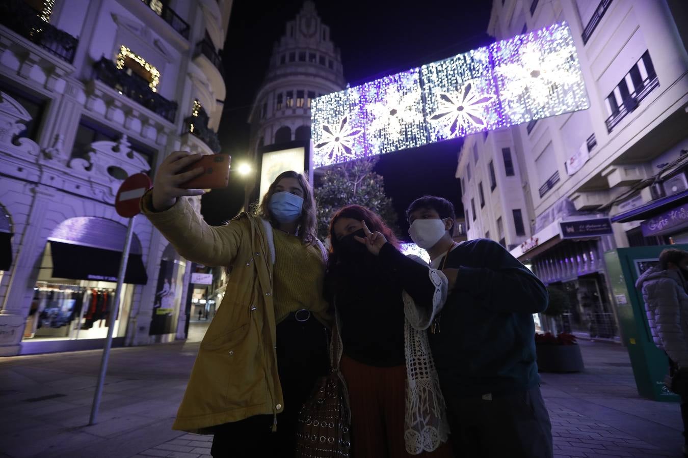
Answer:
<svg viewBox="0 0 688 458"><path fill-rule="evenodd" d="M538 105L550 104L557 87L578 84L578 71L574 65L573 45L561 46L556 51L543 49L541 43L528 43L519 52L519 62L499 65L495 73L503 78L500 93L503 98L517 99L528 95Z"/></svg>

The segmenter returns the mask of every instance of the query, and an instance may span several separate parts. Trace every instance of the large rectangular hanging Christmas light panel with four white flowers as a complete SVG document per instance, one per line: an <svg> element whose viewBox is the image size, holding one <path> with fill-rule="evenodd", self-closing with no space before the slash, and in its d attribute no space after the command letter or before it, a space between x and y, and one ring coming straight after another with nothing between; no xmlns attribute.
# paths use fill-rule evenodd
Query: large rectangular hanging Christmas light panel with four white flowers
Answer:
<svg viewBox="0 0 688 458"><path fill-rule="evenodd" d="M316 98L314 166L588 108L566 23Z"/></svg>

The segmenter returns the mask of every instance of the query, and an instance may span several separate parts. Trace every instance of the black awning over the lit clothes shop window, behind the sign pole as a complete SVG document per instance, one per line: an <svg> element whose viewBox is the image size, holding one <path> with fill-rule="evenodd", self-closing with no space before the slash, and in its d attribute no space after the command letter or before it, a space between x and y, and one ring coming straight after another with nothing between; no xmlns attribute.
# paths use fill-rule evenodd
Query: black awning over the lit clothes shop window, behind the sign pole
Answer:
<svg viewBox="0 0 688 458"><path fill-rule="evenodd" d="M50 240L52 276L76 280L116 282L122 260L121 251L87 247ZM148 282L140 254L130 253L125 283L144 285Z"/></svg>

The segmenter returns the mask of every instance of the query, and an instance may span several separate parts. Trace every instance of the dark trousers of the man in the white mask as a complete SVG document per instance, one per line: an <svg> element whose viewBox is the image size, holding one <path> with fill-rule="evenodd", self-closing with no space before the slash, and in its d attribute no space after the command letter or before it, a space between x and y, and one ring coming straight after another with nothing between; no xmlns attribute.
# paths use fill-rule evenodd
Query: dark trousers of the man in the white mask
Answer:
<svg viewBox="0 0 688 458"><path fill-rule="evenodd" d="M457 458L552 458L552 425L539 387L501 396L444 391Z"/></svg>

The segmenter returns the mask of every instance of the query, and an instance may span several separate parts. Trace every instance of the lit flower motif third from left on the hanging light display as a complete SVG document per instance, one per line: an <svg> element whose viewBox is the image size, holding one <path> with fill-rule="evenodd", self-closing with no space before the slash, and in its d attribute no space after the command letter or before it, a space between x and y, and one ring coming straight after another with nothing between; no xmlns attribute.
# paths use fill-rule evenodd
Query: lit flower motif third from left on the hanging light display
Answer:
<svg viewBox="0 0 688 458"><path fill-rule="evenodd" d="M440 93L440 108L430 119L441 123L449 135L459 133L460 128L464 133L481 129L486 126L485 105L494 98L493 94L482 95L473 91L473 84L469 82L459 92ZM473 129L469 129L471 127Z"/></svg>

